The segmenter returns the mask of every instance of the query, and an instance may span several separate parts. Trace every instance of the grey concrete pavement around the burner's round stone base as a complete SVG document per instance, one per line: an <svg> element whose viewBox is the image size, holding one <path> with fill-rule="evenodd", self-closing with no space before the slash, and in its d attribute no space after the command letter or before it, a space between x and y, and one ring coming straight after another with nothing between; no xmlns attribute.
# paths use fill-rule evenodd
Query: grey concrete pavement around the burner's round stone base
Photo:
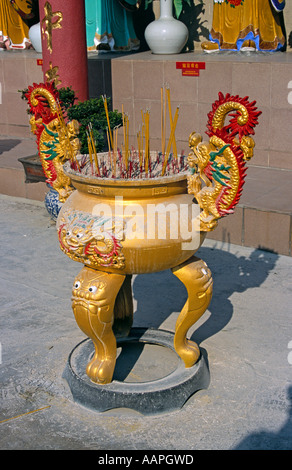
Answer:
<svg viewBox="0 0 292 470"><path fill-rule="evenodd" d="M61 252L42 202L0 195L0 226L2 450L292 449L291 257L206 240L214 294L190 335L208 388L171 413L96 413L62 379L84 339L70 301L82 266ZM175 276L137 276L133 293L134 326L174 331L186 300Z"/></svg>

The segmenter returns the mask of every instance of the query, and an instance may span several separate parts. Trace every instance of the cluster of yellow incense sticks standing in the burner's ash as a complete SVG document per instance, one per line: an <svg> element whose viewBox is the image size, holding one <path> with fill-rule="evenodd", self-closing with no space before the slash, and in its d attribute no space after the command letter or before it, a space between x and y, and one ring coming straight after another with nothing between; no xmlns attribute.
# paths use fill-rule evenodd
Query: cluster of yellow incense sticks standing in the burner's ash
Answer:
<svg viewBox="0 0 292 470"><path fill-rule="evenodd" d="M174 116L172 116L169 87L161 87L162 151L159 152L150 152L149 109L146 109L146 111L141 109L142 125L137 132L138 149L136 150L133 146L129 146L129 116L124 112L123 105L123 142L121 150L118 149L117 144L119 126L116 126L113 130L111 130L106 97L103 97L103 101L108 122L108 128L106 130L108 152L97 154L92 132L92 124L90 123L86 130L89 160L80 160L79 171L81 171L80 168L82 168L83 171L86 167L86 174L91 174L92 176L98 176L101 178L120 179L156 178L186 171L186 159L183 156L183 153L180 155L180 159L178 159L175 140L175 130L179 115L179 106L176 108ZM170 122L170 136L166 148L167 107ZM63 121L60 119L60 122L62 123ZM171 147L173 147L172 154L170 153ZM74 168L76 169L77 165L74 164L73 159L71 160L71 163L72 170L74 170Z"/></svg>

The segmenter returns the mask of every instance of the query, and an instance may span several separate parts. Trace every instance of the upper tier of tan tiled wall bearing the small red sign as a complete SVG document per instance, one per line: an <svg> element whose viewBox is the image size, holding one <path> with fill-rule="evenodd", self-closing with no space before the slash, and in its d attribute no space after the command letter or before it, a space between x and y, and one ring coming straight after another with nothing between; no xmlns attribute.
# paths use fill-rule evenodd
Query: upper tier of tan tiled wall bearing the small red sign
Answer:
<svg viewBox="0 0 292 470"><path fill-rule="evenodd" d="M199 77L182 76L177 61L205 62ZM193 131L205 136L207 114L218 92L256 100L262 111L256 128L256 157L251 164L292 169L292 54L201 52L175 56L150 51L112 61L113 106L129 114L130 135L136 145L141 109L150 109L151 147L160 149L161 87L168 85L172 111L180 106L176 130L178 150L188 151ZM290 95L289 95L290 93ZM206 138L206 136L204 137Z"/></svg>

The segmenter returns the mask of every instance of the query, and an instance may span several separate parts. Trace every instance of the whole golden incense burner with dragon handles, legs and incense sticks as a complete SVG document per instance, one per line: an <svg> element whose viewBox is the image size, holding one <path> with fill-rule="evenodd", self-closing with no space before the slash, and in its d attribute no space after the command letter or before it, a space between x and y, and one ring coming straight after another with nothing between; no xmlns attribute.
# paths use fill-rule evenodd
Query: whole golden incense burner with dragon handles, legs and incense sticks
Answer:
<svg viewBox="0 0 292 470"><path fill-rule="evenodd" d="M34 99L37 93L34 90ZM47 95L43 87L39 93ZM51 109L52 118L58 120L60 113L54 110L54 105ZM143 151L139 146L135 155L125 146L126 159L120 170L116 135L110 129L108 153L94 152L90 129L89 159L78 157L76 145L71 149L71 156L69 152L62 177L67 188L70 180L72 189L59 213L57 230L61 250L83 265L73 284L72 307L77 324L94 344L93 357L86 367L92 382L112 381L116 338L128 335L133 321L131 277L134 274L171 269L185 285L188 299L176 322L174 349L186 368L198 361L200 349L187 339L187 333L208 308L213 283L209 268L195 253L207 232L216 227L221 217L232 213L239 201L245 162L253 155L254 141L250 134L254 133L259 114L255 102L250 103L247 97L219 93L208 115L209 141L202 142L199 134L192 133L191 151L184 162L179 161L175 150L170 155L170 144L163 149L160 160L158 154L150 152L147 115L144 115L146 145ZM163 124L163 115L162 118ZM177 111L173 118L170 115L169 142L174 148L176 121ZM56 155L58 159L68 154L74 136L69 124L60 121L54 125L52 138L56 140L58 133L62 139L67 136L60 139L63 150L60 156ZM39 118L38 126L47 132L49 123L41 128ZM124 119L126 143L127 128ZM46 158L49 147L46 142ZM104 170L107 158L111 161L110 173ZM140 165L143 171L135 170L135 161L136 170Z"/></svg>

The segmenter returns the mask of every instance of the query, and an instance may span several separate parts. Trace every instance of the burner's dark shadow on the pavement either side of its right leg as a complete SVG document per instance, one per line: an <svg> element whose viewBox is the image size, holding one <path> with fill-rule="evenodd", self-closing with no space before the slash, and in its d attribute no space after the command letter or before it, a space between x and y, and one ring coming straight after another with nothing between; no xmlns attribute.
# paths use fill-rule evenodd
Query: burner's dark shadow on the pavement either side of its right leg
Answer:
<svg viewBox="0 0 292 470"><path fill-rule="evenodd" d="M208 308L211 315L195 332L196 343L200 344L231 320L231 295L259 287L275 267L278 255L255 249L248 257L236 256L221 250L219 246L201 247L196 255L207 263L214 281L213 297ZM137 276L133 282L133 295L137 302L135 322L152 328L159 328L173 312L180 312L187 300L184 285L171 271ZM149 312L153 312L151 317Z"/></svg>

